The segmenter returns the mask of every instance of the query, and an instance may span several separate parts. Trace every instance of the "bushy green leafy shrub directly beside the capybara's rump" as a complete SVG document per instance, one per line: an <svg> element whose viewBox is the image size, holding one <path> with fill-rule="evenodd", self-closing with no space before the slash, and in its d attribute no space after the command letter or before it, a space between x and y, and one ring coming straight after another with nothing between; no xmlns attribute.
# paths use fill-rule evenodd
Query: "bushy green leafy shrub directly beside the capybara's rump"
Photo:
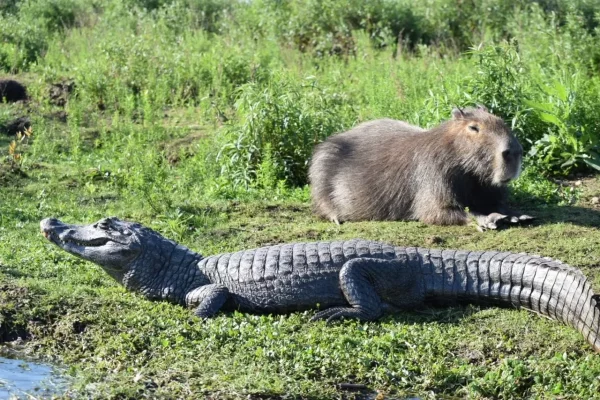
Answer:
<svg viewBox="0 0 600 400"><path fill-rule="evenodd" d="M255 182L266 149L275 171L268 176L305 184L313 146L353 118L346 95L319 87L314 78L294 82L278 76L267 87L250 83L239 93L236 119L224 128L226 143L218 156L222 174L234 185Z"/></svg>

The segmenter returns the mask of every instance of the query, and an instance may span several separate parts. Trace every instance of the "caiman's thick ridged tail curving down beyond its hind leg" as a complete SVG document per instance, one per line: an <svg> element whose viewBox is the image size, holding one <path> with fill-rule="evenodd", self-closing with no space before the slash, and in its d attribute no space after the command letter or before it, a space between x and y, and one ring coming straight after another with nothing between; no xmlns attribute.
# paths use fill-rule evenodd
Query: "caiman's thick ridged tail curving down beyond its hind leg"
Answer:
<svg viewBox="0 0 600 400"><path fill-rule="evenodd" d="M526 308L571 325L600 352L600 295L579 269L522 253L414 250L428 297Z"/></svg>

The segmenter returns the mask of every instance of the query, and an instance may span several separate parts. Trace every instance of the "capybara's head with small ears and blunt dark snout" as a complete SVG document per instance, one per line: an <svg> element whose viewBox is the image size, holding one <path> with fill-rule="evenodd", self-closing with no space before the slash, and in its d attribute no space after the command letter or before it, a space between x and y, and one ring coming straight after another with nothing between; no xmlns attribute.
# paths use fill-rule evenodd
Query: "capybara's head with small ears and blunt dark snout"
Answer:
<svg viewBox="0 0 600 400"><path fill-rule="evenodd" d="M502 186L521 173L523 147L506 123L487 108L452 110L452 133L459 138L460 151L472 171Z"/></svg>

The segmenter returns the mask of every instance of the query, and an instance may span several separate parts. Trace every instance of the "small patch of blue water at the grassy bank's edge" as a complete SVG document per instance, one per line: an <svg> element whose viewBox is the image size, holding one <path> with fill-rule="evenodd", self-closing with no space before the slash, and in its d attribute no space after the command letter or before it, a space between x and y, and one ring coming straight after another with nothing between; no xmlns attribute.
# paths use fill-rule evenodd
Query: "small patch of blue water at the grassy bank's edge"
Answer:
<svg viewBox="0 0 600 400"><path fill-rule="evenodd" d="M65 387L66 380L50 365L0 357L0 400L51 397Z"/></svg>

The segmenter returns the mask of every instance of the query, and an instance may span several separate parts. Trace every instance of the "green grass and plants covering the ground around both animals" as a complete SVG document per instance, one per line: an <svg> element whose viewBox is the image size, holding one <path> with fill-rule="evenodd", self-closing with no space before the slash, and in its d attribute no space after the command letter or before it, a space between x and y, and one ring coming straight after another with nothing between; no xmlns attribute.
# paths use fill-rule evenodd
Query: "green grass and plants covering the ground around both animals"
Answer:
<svg viewBox="0 0 600 400"><path fill-rule="evenodd" d="M351 237L526 251L600 288L600 179L585 175L600 165L598 12L592 0L0 2L0 71L31 97L0 104L0 125L32 124L0 137L0 342L26 339L93 398L337 398L343 382L423 398L598 398L600 358L525 311L199 321L38 233L48 216L118 215L203 254ZM513 201L533 226L311 215L315 143L379 117L433 126L474 103L529 154Z"/></svg>

